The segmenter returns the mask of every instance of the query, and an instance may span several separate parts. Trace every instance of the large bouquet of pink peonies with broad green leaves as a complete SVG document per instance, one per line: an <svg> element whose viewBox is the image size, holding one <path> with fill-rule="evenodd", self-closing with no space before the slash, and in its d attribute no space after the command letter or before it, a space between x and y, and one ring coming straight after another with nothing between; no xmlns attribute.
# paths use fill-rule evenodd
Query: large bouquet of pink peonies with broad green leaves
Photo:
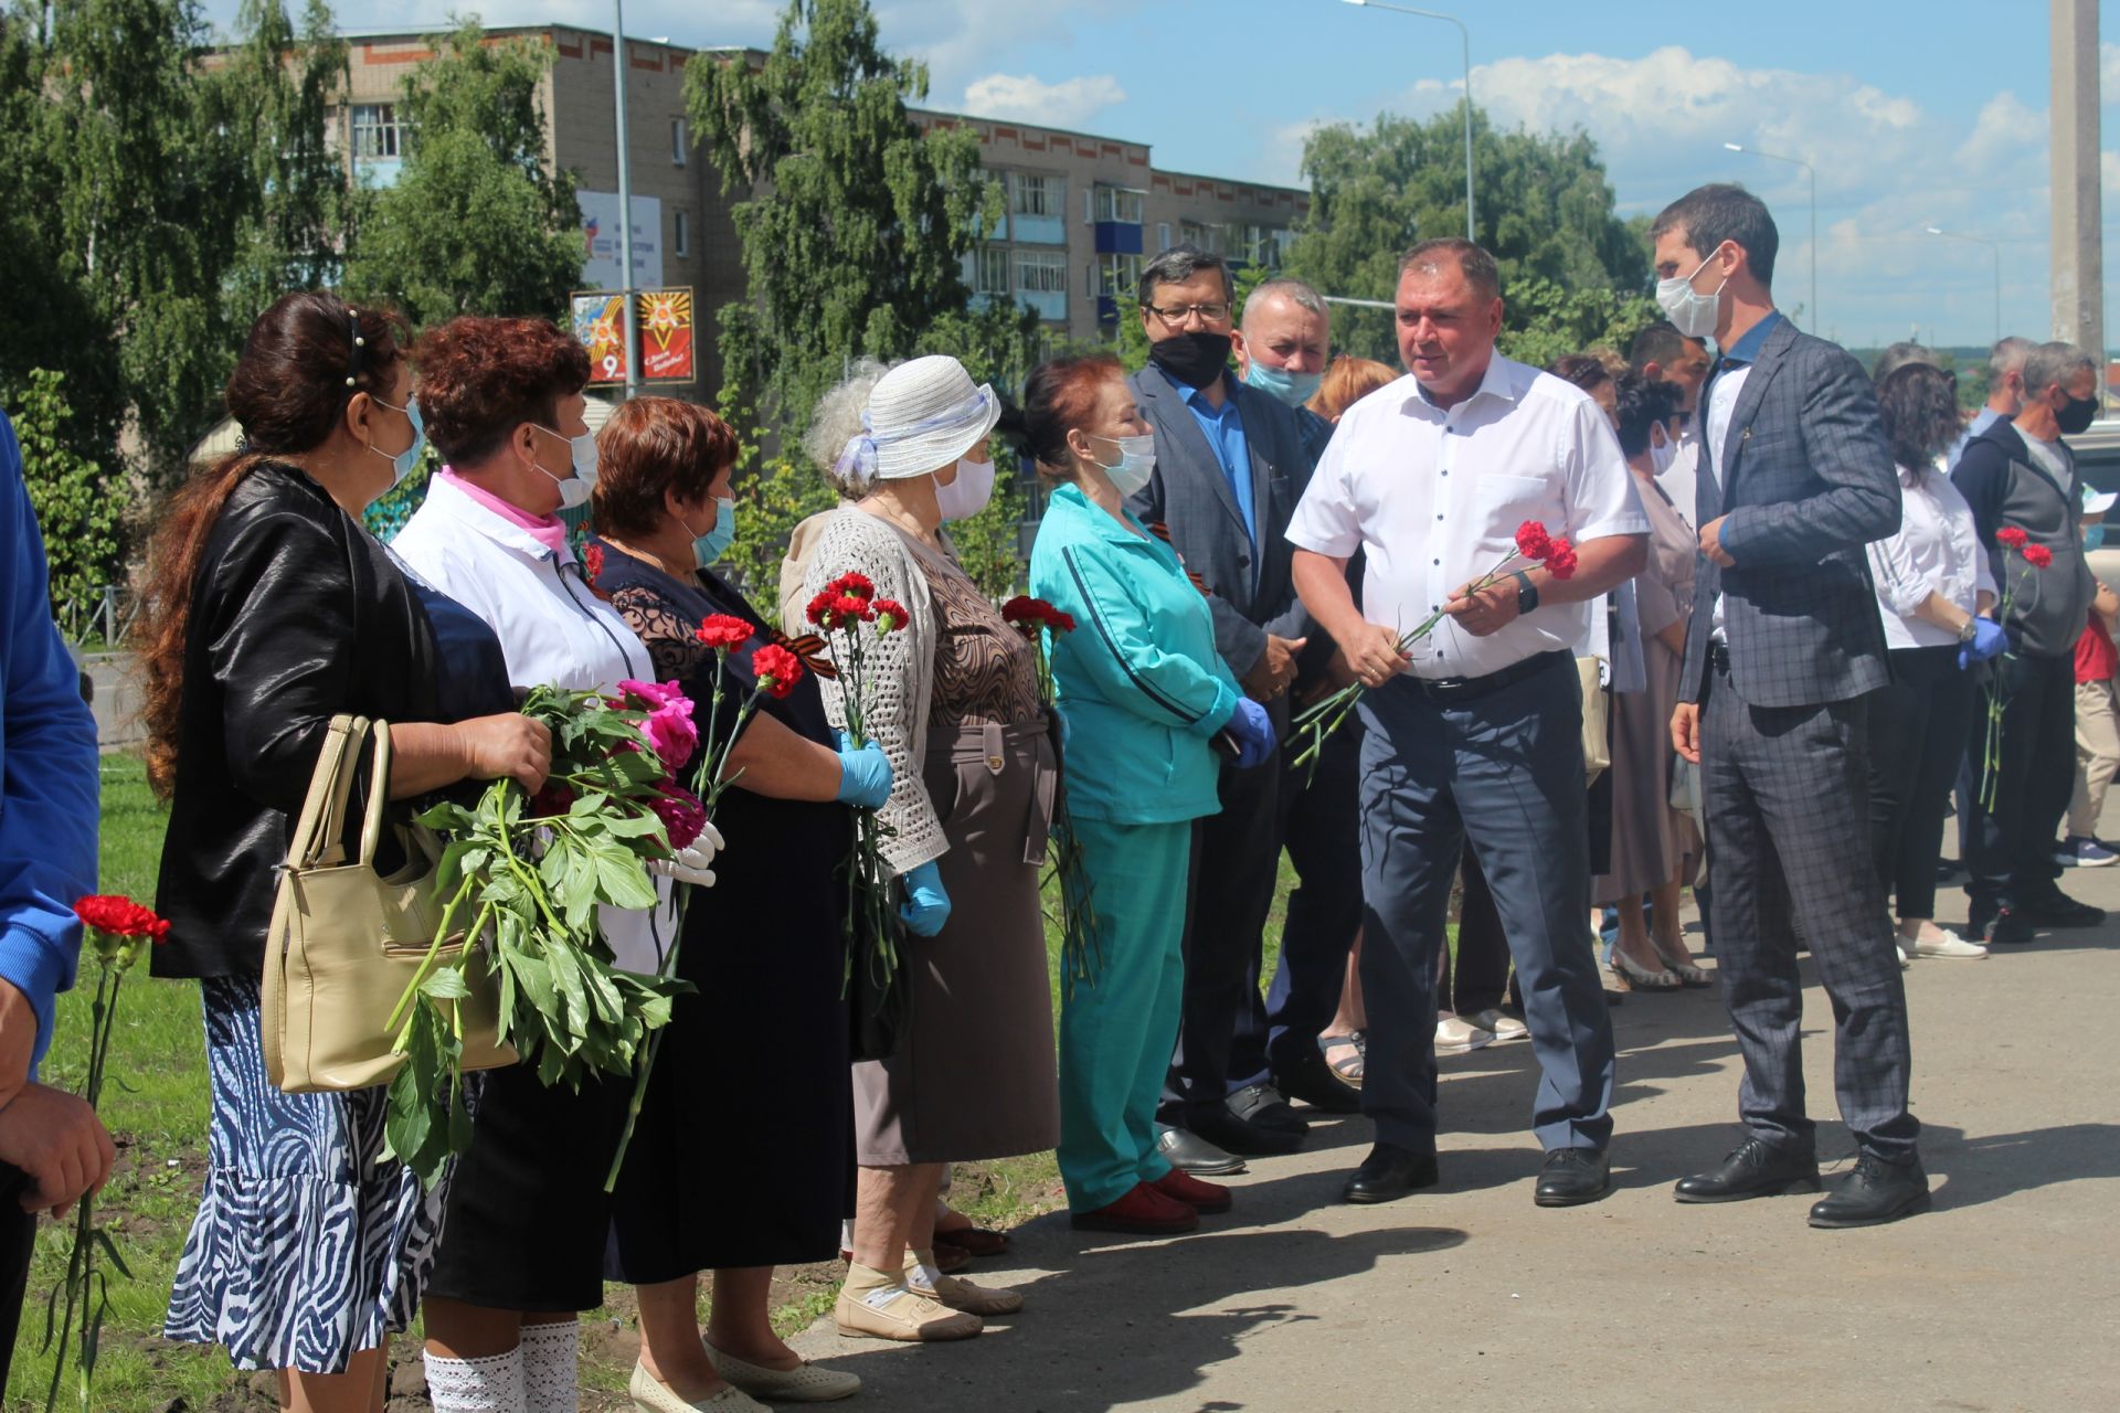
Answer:
<svg viewBox="0 0 2120 1413"><path fill-rule="evenodd" d="M471 1146L456 1008L466 968L500 987L500 1040L545 1085L630 1074L647 1038L687 989L615 966L596 909L651 909L647 864L706 828L706 807L672 780L697 744L691 701L661 682L621 682L617 697L532 688L522 705L551 729L551 775L534 797L496 780L477 805L420 816L443 843L435 888L441 926L390 1023L405 1066L390 1080L388 1152L424 1182ZM483 938L443 962L445 938Z"/></svg>

